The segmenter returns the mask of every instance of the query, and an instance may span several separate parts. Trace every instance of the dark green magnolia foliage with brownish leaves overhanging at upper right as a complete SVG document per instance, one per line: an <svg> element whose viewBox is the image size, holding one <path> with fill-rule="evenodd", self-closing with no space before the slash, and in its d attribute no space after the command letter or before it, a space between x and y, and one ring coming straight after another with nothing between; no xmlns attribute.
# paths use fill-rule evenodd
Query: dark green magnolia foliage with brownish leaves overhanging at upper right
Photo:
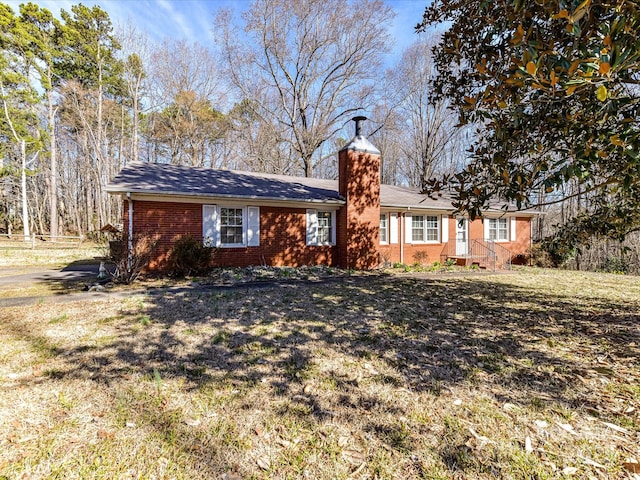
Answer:
<svg viewBox="0 0 640 480"><path fill-rule="evenodd" d="M556 243L640 228L638 3L443 0L417 29L442 22L435 95L480 127L468 166L425 190L450 186L473 218L495 198L562 201L571 182L588 204Z"/></svg>

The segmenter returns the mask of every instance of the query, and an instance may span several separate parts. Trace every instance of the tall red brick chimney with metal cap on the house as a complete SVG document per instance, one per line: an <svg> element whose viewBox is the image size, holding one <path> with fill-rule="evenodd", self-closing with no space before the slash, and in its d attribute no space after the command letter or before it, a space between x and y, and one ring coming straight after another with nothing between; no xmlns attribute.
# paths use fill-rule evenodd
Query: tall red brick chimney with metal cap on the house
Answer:
<svg viewBox="0 0 640 480"><path fill-rule="evenodd" d="M362 133L366 117L354 117L356 135L338 152L340 266L370 270L380 263L380 151Z"/></svg>

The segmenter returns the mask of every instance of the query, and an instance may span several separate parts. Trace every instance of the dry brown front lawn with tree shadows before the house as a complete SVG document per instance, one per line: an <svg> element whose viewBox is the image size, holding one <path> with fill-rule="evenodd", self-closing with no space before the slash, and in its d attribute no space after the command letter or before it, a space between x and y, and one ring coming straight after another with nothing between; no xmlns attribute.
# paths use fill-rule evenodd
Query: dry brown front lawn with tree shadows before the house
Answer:
<svg viewBox="0 0 640 480"><path fill-rule="evenodd" d="M0 309L0 478L632 478L639 318L546 270Z"/></svg>

